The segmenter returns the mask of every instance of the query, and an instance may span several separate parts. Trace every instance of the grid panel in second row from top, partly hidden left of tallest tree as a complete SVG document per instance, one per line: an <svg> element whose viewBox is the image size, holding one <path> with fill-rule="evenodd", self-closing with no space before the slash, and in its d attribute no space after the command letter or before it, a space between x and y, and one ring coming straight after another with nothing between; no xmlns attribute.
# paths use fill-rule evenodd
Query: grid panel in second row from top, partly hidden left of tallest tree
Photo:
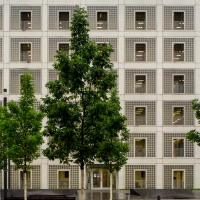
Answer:
<svg viewBox="0 0 200 200"><path fill-rule="evenodd" d="M49 38L49 62L55 62L59 43L69 43L70 38Z"/></svg>

